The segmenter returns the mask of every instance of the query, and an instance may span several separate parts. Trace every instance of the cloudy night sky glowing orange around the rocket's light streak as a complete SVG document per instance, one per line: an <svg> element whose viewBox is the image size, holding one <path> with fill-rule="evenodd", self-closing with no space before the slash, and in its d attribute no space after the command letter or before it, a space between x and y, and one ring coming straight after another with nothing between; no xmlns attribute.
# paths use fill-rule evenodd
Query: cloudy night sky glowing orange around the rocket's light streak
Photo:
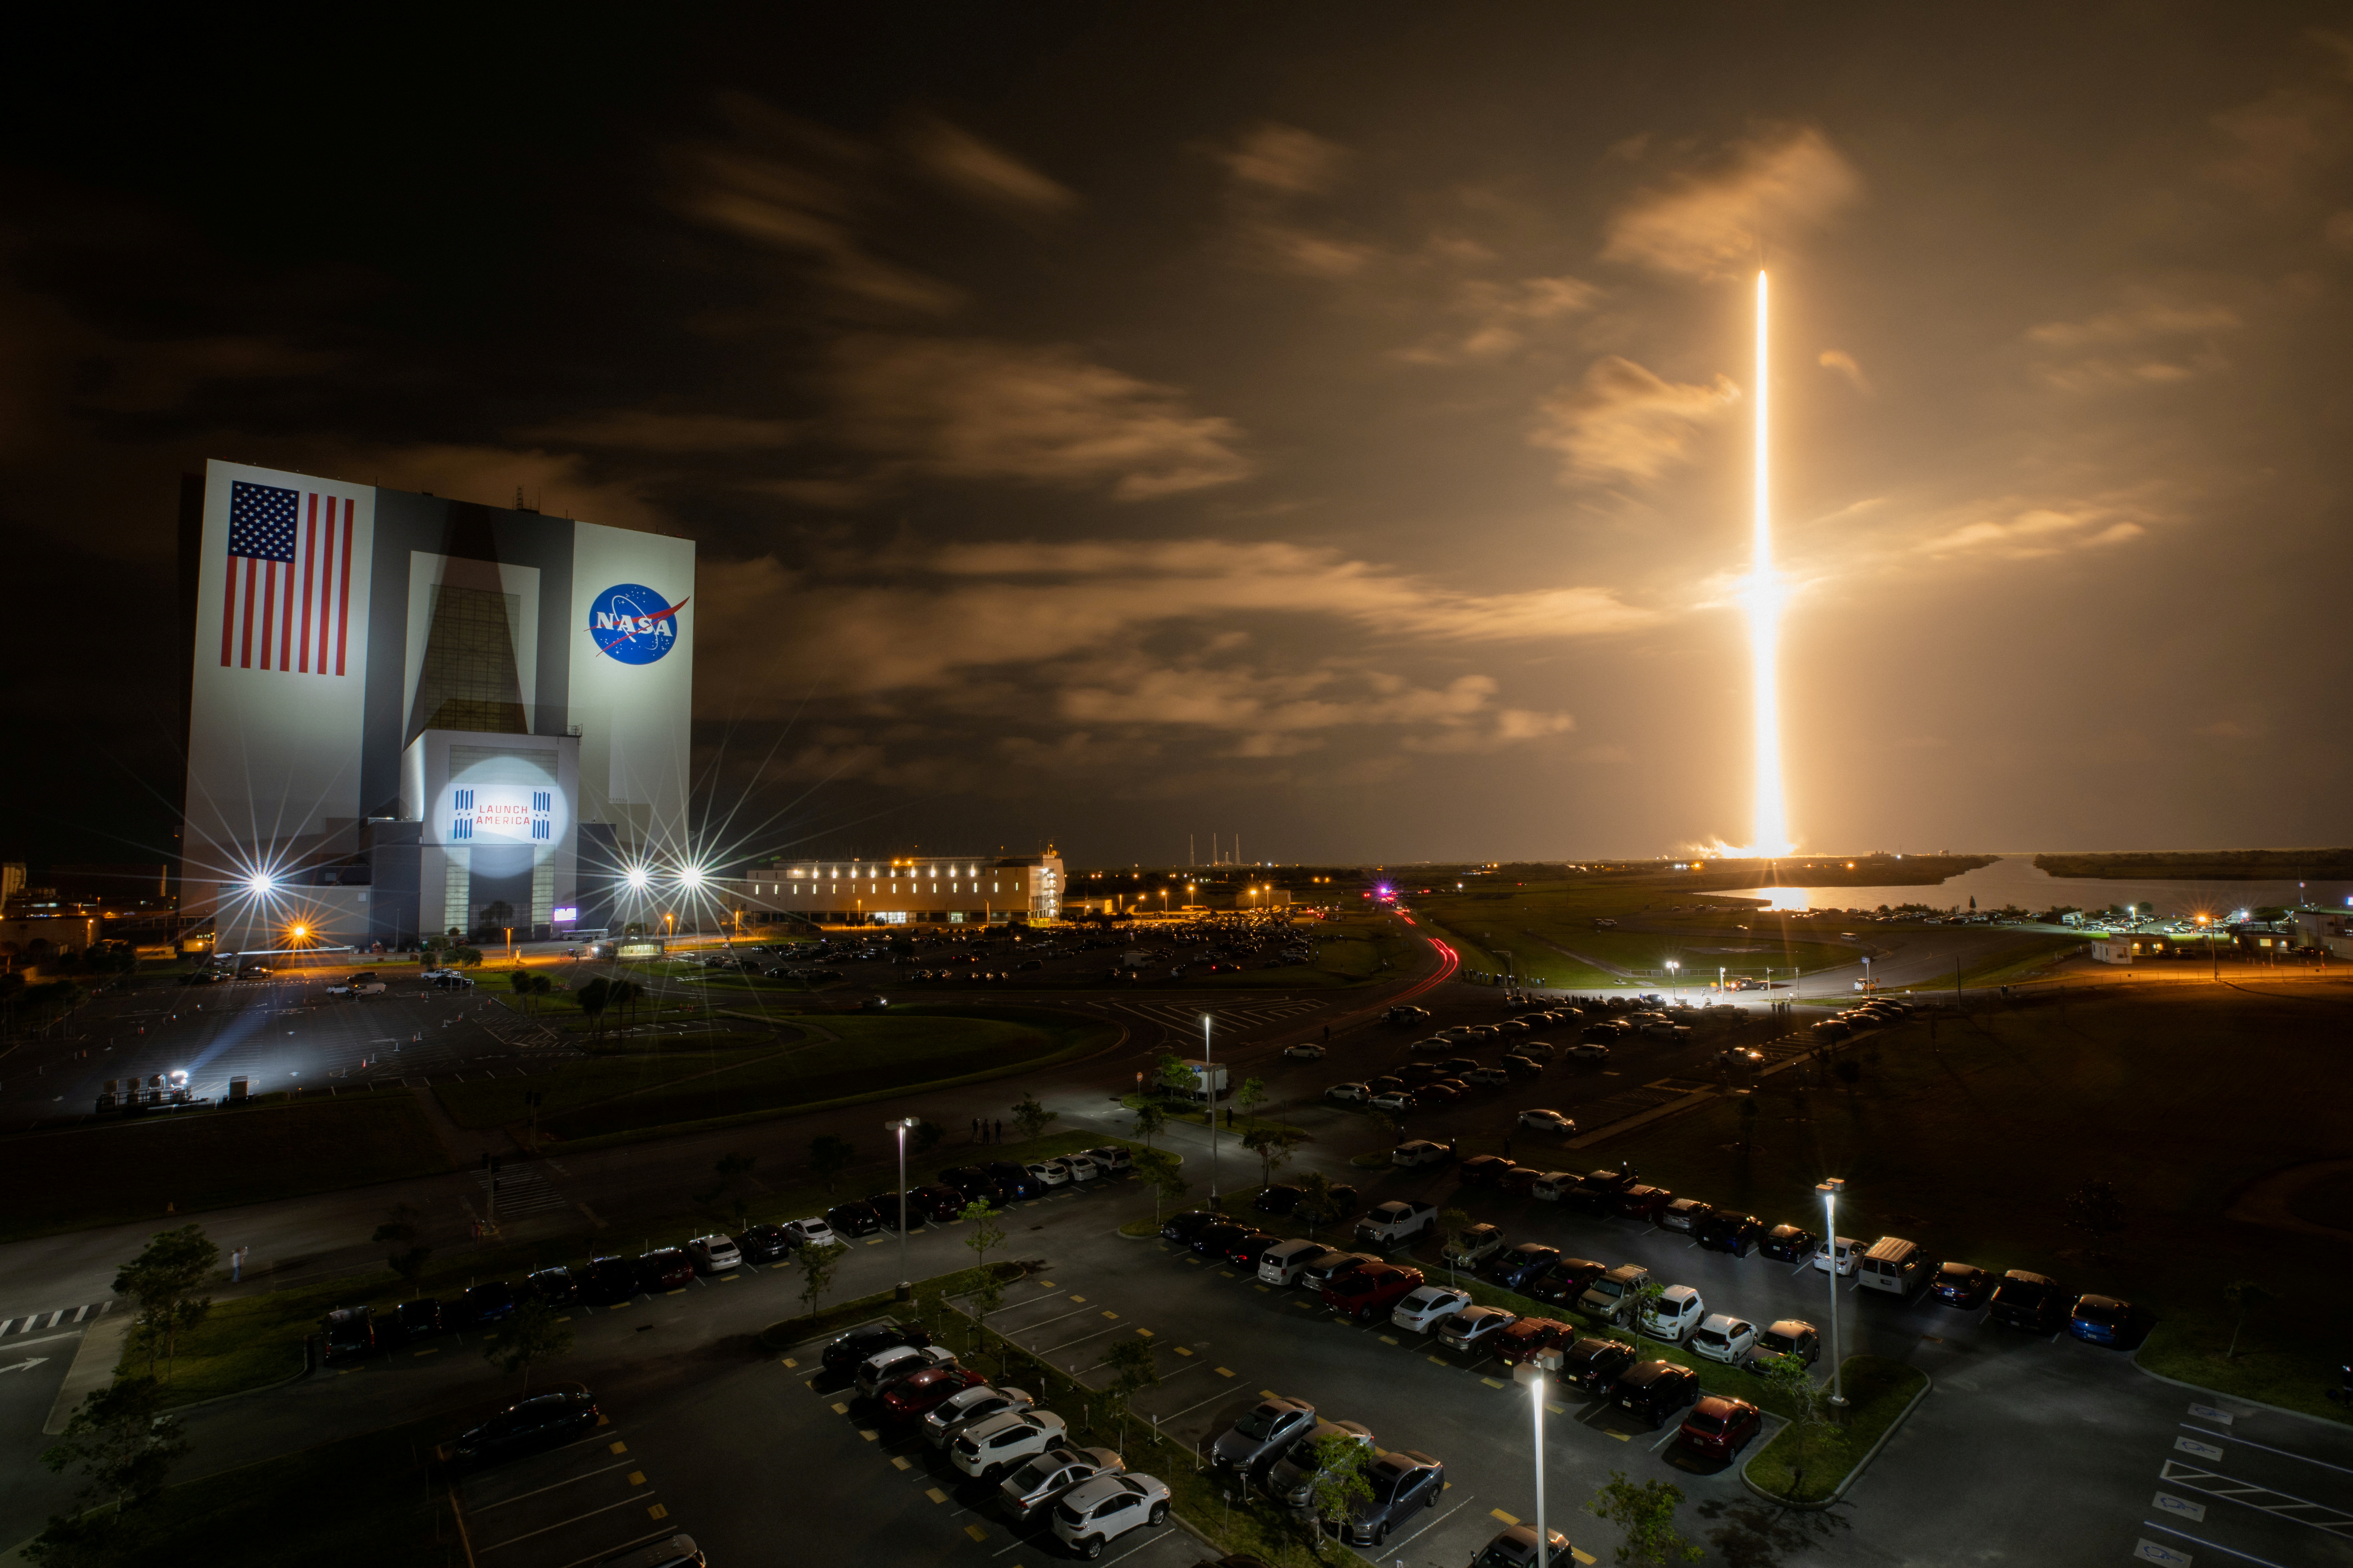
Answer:
<svg viewBox="0 0 2353 1568"><path fill-rule="evenodd" d="M2344 7L478 9L19 35L0 856L207 456L694 536L734 849L1741 842L1760 259L1800 846L2346 837Z"/></svg>

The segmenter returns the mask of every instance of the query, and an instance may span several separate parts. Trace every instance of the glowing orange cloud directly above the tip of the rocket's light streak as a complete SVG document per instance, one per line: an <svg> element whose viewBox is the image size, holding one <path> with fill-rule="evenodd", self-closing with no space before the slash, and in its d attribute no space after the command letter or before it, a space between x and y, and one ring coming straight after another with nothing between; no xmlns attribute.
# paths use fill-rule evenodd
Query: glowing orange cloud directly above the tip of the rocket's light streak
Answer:
<svg viewBox="0 0 2353 1568"><path fill-rule="evenodd" d="M1852 202L1861 181L1821 132L1732 148L1727 167L1647 190L1609 221L1605 261L1685 277L1753 270L1760 247Z"/></svg>

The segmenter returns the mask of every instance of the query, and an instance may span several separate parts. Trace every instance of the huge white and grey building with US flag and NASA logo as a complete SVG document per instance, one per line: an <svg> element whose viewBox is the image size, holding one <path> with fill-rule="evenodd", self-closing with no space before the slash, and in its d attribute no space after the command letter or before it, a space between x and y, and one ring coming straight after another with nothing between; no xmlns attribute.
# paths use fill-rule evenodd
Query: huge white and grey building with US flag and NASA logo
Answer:
<svg viewBox="0 0 2353 1568"><path fill-rule="evenodd" d="M694 541L207 463L181 907L219 952L605 926L675 860Z"/></svg>

